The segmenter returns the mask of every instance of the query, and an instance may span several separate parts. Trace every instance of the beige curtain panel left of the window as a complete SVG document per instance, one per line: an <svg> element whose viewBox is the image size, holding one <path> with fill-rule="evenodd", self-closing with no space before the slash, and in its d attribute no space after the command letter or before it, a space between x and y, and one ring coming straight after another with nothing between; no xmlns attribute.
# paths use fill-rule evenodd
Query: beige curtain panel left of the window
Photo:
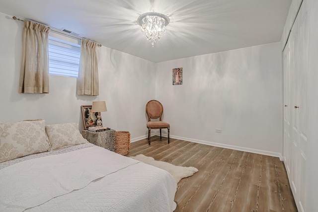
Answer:
<svg viewBox="0 0 318 212"><path fill-rule="evenodd" d="M24 20L19 93L49 93L50 28Z"/></svg>

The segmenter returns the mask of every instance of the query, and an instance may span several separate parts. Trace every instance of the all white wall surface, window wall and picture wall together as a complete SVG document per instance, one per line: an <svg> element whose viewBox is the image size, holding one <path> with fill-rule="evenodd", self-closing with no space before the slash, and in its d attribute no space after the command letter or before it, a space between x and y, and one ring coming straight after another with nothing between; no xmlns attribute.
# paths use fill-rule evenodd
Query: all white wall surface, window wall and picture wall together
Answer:
<svg viewBox="0 0 318 212"><path fill-rule="evenodd" d="M104 124L131 132L137 141L147 136L145 105L158 99L172 138L275 156L282 152L279 43L158 64L100 47L99 96L78 96L76 78L53 75L49 94L19 94L23 23L0 13L0 26L2 122L42 118L47 124L81 126L80 105L105 100ZM172 85L172 69L179 67L183 85Z"/></svg>

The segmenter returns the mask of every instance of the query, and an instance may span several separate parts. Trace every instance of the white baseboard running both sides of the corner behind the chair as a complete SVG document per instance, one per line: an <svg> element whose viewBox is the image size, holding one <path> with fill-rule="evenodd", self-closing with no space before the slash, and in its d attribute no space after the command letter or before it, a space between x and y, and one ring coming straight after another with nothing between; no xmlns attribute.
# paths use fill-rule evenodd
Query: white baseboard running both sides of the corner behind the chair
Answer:
<svg viewBox="0 0 318 212"><path fill-rule="evenodd" d="M153 134L153 136L160 136L159 133ZM161 134L162 137L168 137L167 134ZM142 136L139 137L142 139L146 139L147 136ZM234 150L239 150L239 151L246 151L246 152L251 152L255 154L263 154L263 155L268 155L268 156L273 156L273 157L279 157L281 161L284 160L283 155L279 152L273 152L273 151L265 151L265 150L260 150L260 149L253 149L253 148L246 148L246 147L241 147L241 146L235 146L235 145L228 145L228 144L222 144L222 143L216 143L216 142L210 142L210 141L201 141L201 140L196 140L196 139L189 139L189 138L184 138L184 137L179 137L179 136L172 136L170 135L171 139L179 139L183 141L190 141L190 142L195 142L195 143L201 143L209 146L217 146L217 147L222 147L222 148L228 148L228 149L234 149ZM134 139L134 141L139 141Z"/></svg>

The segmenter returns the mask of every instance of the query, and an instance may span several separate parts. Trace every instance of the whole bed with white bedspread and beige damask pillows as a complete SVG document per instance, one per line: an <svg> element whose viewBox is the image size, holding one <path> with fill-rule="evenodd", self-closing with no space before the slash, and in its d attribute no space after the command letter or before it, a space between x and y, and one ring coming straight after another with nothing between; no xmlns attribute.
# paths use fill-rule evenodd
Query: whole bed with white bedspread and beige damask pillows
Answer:
<svg viewBox="0 0 318 212"><path fill-rule="evenodd" d="M34 123L41 122L42 136L43 132L39 135L30 126L21 128L17 123L0 122L1 212L171 212L175 209L176 183L168 172L88 143L80 138L77 124L45 126L43 121L19 123L32 128ZM33 134L39 135L42 141L35 142ZM28 142L23 143L25 140ZM49 149L43 151L47 148L45 143ZM32 152L32 148L40 152L23 153L25 149Z"/></svg>

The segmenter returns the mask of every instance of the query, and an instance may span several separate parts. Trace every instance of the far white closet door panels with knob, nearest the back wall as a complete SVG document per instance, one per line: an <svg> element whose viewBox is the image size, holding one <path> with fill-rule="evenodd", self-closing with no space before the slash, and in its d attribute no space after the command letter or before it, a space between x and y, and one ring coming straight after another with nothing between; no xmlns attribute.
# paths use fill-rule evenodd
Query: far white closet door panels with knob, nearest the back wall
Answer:
<svg viewBox="0 0 318 212"><path fill-rule="evenodd" d="M289 36L287 45L284 49L284 157L286 171L291 184L291 188L296 201L298 194L299 165L299 115L298 110L295 110L295 105L299 102L299 69L298 66L298 42L299 32L294 25Z"/></svg>

